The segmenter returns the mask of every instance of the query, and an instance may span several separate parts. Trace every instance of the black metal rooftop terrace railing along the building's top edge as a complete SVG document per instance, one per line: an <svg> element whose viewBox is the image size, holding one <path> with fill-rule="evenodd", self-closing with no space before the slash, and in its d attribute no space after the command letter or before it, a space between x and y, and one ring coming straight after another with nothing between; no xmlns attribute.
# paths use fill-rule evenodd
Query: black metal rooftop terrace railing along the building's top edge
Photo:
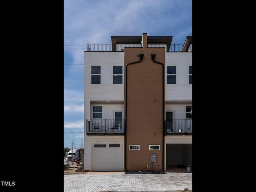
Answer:
<svg viewBox="0 0 256 192"><path fill-rule="evenodd" d="M166 52L187 52L190 44L148 44L148 47L169 47ZM87 51L124 51L124 48L142 47L141 44L87 44Z"/></svg>

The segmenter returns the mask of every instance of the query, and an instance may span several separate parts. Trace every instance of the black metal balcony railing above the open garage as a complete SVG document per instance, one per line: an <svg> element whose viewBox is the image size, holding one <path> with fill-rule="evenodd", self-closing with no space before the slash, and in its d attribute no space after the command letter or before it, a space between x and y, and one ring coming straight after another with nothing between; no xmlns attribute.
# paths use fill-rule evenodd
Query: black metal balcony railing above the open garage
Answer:
<svg viewBox="0 0 256 192"><path fill-rule="evenodd" d="M192 132L192 119L173 119L165 121L166 133L188 133Z"/></svg>

